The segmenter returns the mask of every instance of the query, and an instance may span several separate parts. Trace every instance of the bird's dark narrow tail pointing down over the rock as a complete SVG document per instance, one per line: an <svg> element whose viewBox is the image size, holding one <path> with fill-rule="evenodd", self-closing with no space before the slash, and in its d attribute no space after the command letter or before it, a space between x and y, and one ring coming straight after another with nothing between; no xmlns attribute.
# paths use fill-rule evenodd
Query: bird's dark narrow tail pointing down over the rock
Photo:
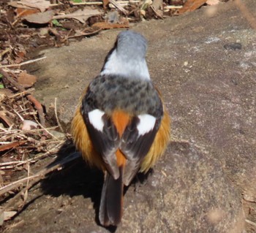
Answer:
<svg viewBox="0 0 256 233"><path fill-rule="evenodd" d="M119 167L119 177L115 180L108 172L102 188L99 206L99 221L103 226L117 226L121 221L123 209L123 172Z"/></svg>

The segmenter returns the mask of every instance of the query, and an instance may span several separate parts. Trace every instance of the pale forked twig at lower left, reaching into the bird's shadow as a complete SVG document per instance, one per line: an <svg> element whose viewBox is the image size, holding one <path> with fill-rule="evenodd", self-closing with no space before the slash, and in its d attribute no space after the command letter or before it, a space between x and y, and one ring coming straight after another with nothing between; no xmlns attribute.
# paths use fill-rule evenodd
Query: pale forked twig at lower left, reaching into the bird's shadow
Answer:
<svg viewBox="0 0 256 233"><path fill-rule="evenodd" d="M0 195L6 193L7 191L10 191L14 188L18 188L23 183L30 182L28 186L23 188L21 191L18 192L10 201L3 207L1 211L7 210L8 208L12 207L12 205L15 204L16 200L18 199L19 196L24 194L26 191L28 191L32 186L37 184L40 180L44 179L48 173L53 172L55 170L60 170L64 168L64 165L69 163L70 161L75 160L76 158L80 157L80 153L72 153L66 158L62 159L59 162L56 162L55 164L50 165L49 167L46 167L45 169L42 169L40 172L37 172L35 175L31 175L29 177L25 177L21 180L18 180L14 183L11 183L7 186L4 186L3 188L0 188Z"/></svg>

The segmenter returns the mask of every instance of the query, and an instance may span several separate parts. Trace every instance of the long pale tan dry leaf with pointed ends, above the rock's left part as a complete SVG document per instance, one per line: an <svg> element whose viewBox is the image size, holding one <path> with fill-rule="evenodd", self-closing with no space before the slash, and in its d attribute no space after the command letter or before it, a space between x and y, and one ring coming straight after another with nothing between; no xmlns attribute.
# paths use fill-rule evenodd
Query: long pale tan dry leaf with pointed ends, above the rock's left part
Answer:
<svg viewBox="0 0 256 233"><path fill-rule="evenodd" d="M53 17L53 19L58 20L63 18L75 18L81 23L86 23L86 20L88 20L88 18L90 18L91 16L101 15L101 14L102 12L100 12L98 9L85 8L85 9L78 9L77 11L67 15L56 15Z"/></svg>

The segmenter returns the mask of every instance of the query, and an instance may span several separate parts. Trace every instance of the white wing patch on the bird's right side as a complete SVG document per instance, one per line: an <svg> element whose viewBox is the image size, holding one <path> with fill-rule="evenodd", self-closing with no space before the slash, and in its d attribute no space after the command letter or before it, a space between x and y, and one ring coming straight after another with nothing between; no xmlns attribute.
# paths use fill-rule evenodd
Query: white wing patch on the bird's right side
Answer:
<svg viewBox="0 0 256 233"><path fill-rule="evenodd" d="M143 114L138 115L138 118L140 119L140 123L137 126L139 135L144 135L154 129L156 118L153 115Z"/></svg>

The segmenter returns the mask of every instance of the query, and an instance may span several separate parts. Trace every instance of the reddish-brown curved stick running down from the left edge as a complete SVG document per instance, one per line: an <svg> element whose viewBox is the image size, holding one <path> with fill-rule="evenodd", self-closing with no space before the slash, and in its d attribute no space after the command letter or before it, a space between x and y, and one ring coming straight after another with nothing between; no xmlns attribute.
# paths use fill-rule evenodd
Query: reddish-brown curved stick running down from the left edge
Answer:
<svg viewBox="0 0 256 233"><path fill-rule="evenodd" d="M20 85L15 80L13 80L12 77L10 77L10 75L8 75L7 72L5 72L3 69L0 69L0 73L4 76L3 77L4 80L7 80L9 83L14 85L15 88L18 88L19 91L22 91L22 92L26 91L26 89L23 88L22 85ZM34 98L34 96L31 95L31 93L26 95L26 98L29 99L29 101L34 104L34 107L37 109L37 112L38 112L38 115L39 115L39 121L40 121L42 126L45 126L45 115L44 115L44 110L42 108L42 104L40 104L37 101L37 99Z"/></svg>

